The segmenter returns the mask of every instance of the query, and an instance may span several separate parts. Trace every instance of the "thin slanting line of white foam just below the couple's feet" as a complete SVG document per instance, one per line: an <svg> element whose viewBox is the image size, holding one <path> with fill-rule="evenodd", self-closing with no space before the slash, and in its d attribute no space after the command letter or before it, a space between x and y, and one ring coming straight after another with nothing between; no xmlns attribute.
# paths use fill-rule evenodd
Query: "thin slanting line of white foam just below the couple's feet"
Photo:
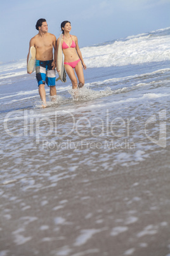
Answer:
<svg viewBox="0 0 170 256"><path fill-rule="evenodd" d="M87 90L88 89L85 89L85 94L88 94L87 93ZM91 90L89 90L89 93L90 93ZM107 90L106 90L107 92ZM112 94L114 94L114 92L112 92L110 90L110 92ZM98 92L97 92L97 95L98 95ZM96 95L96 96L97 96ZM20 110L15 110L15 111L11 111L9 113L6 114L6 120L8 120L8 122L11 122L12 120L24 120L25 118L27 118L27 120L29 120L29 118L39 118L40 120L43 120L46 119L48 120L47 118L50 118L50 117L54 117L55 116L69 116L69 117L72 117L72 115L74 113L80 113L80 112L84 112L84 111L96 111L96 109L101 109L101 110L106 110L107 108L110 108L110 107L114 107L116 106L119 107L119 106L123 106L124 104L125 105L128 105L128 106L132 106L132 104L136 104L136 103L139 103L140 101L141 102L144 102L147 101L148 99L157 99L157 98L164 98L164 97L169 97L170 94L168 93L148 93L148 94L143 94L143 95L138 95L138 96L133 96L133 97L129 97L129 98L126 98L126 99L115 99L114 101L112 102L106 102L106 101L101 101L100 103L92 103L92 104L79 104L77 106L67 106L67 104L65 103L68 103L68 99L65 99L64 97L61 97L61 96L58 96L58 99L56 99L57 103L58 104L62 104L62 107L58 107L58 108L55 108L56 104L57 103L49 103L48 106L51 106L53 107L53 111L51 111L50 109L46 108L46 109L43 109L42 111L37 111L37 108L40 108L41 104L37 105L35 109L31 109L31 110L25 110L23 109L22 111ZM95 98L95 94L93 95L93 97ZM97 98L97 97L96 97ZM70 103L70 102L69 102ZM79 101L79 103L81 103L81 101ZM65 105L63 105L65 104Z"/></svg>

